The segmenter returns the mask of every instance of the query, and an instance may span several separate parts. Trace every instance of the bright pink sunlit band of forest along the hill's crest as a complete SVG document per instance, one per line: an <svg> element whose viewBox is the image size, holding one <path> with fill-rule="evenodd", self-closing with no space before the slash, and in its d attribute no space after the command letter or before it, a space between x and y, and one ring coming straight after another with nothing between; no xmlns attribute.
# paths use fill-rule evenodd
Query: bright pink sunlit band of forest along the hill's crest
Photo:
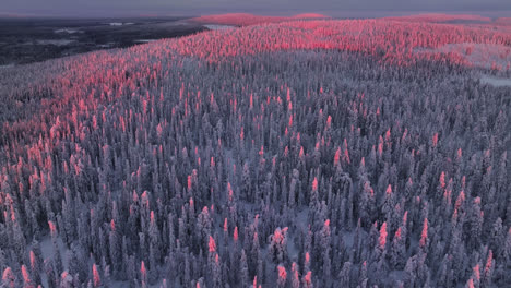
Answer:
<svg viewBox="0 0 511 288"><path fill-rule="evenodd" d="M200 39L199 36L190 36L171 44L173 48L182 55L193 53L200 58L209 58L211 61L218 61L222 57L255 55L264 51L340 49L376 56L382 61L400 65L409 65L419 59L431 61L449 59L463 65L472 65L459 53L441 53L435 49L452 43L492 41L502 45L509 40L509 35L485 27L389 20L286 22L266 26L270 29L280 29L281 37L272 41L251 41L250 39L253 38L264 38L261 34L265 32L253 27L243 27L200 35L202 38L207 35L206 37L214 36L221 39L213 45L207 45L207 41ZM336 33L338 31L342 33ZM363 34L366 31L370 31L370 33ZM411 31L414 33L409 33ZM329 36L330 40L325 41L324 36ZM424 40L425 38L427 40ZM321 87L320 93L323 93L322 89Z"/></svg>

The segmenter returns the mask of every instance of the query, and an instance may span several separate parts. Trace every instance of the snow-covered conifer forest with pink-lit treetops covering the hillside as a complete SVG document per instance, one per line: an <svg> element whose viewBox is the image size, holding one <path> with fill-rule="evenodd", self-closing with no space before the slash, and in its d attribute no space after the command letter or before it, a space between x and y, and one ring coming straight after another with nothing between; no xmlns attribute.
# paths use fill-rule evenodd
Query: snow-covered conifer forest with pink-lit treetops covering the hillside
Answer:
<svg viewBox="0 0 511 288"><path fill-rule="evenodd" d="M506 287L511 87L479 80L510 76L500 23L292 21L0 70L2 287Z"/></svg>

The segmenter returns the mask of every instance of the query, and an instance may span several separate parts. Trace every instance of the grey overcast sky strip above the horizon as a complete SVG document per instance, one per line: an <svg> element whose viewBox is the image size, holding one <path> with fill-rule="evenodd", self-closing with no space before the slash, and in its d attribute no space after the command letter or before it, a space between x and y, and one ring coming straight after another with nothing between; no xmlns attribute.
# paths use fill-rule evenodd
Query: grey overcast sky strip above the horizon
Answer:
<svg viewBox="0 0 511 288"><path fill-rule="evenodd" d="M293 14L347 11L511 11L511 0L0 0L0 14L177 15L218 12Z"/></svg>

